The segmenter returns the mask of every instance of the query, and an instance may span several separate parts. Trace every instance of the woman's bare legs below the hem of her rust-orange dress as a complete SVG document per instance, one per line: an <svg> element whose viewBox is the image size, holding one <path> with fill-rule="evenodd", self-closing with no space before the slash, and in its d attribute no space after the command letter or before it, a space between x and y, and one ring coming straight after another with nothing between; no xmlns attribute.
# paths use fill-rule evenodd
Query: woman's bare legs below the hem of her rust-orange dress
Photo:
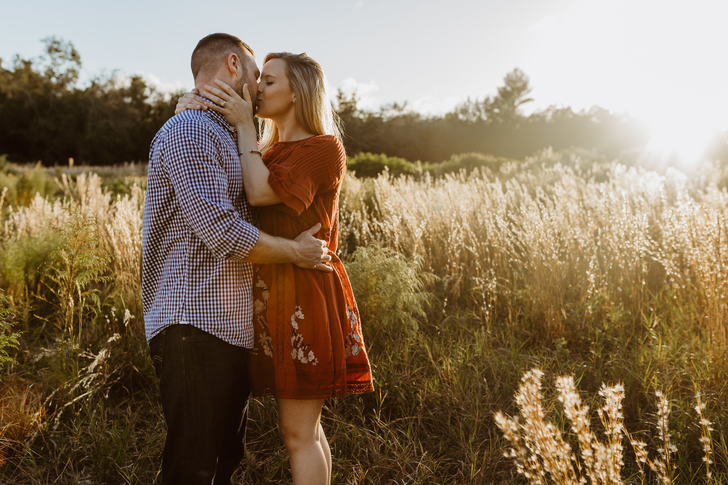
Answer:
<svg viewBox="0 0 728 485"><path fill-rule="evenodd" d="M323 399L276 399L293 485L328 485L331 452L321 428Z"/></svg>

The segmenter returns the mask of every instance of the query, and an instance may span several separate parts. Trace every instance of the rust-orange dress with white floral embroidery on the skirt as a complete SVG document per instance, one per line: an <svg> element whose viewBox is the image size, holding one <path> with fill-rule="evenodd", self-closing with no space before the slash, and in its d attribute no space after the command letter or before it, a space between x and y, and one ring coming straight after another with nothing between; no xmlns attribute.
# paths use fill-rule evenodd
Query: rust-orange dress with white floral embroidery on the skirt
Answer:
<svg viewBox="0 0 728 485"><path fill-rule="evenodd" d="M321 399L371 392L359 311L336 257L344 146L331 135L278 142L263 161L282 204L259 208L259 228L293 239L321 223L316 237L328 242L333 272L292 263L255 265L256 344L248 357L253 396Z"/></svg>

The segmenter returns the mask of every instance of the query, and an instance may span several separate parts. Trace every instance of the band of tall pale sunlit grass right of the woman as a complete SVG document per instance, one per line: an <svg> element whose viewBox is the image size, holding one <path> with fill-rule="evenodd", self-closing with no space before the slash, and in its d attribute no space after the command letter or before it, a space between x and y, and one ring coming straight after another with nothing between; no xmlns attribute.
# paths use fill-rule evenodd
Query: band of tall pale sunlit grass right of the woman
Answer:
<svg viewBox="0 0 728 485"><path fill-rule="evenodd" d="M604 302L636 324L676 307L725 342L725 190L692 196L679 172L618 164L603 183L561 165L504 175L349 177L342 247L379 241L422 257L448 301L474 300L486 324L525 318L547 342L592 324Z"/></svg>

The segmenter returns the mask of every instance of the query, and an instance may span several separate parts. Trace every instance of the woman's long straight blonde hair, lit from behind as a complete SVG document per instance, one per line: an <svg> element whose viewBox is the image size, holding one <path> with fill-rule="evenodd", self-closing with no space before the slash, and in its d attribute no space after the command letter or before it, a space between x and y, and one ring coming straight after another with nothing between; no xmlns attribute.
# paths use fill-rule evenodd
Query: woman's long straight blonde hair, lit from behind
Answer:
<svg viewBox="0 0 728 485"><path fill-rule="evenodd" d="M298 124L314 135L333 135L341 141L341 120L326 95L326 75L321 65L306 52L271 52L264 64L271 59L285 60L285 75L296 94L294 113ZM259 149L266 153L278 141L278 127L271 119L264 119L262 132Z"/></svg>

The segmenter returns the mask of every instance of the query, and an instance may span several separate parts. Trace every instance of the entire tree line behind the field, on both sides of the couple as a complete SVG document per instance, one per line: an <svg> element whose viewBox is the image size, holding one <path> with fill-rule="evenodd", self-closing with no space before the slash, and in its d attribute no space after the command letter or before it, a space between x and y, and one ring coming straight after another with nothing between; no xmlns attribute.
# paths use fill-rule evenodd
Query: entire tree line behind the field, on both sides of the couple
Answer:
<svg viewBox="0 0 728 485"><path fill-rule="evenodd" d="M81 57L70 42L44 39L39 59L0 63L0 153L10 161L108 165L147 161L149 145L174 114L181 93L165 95L141 76L98 76L79 85ZM1 62L1 60L0 60ZM356 95L339 92L347 153L385 153L438 163L479 152L523 159L541 148L584 148L629 161L647 142L636 119L604 108L574 111L551 106L526 116L529 79L515 69L496 95L470 100L443 116L424 116L406 103L379 111L357 108ZM722 147L717 147L720 150ZM724 152L724 150L722 150Z"/></svg>

